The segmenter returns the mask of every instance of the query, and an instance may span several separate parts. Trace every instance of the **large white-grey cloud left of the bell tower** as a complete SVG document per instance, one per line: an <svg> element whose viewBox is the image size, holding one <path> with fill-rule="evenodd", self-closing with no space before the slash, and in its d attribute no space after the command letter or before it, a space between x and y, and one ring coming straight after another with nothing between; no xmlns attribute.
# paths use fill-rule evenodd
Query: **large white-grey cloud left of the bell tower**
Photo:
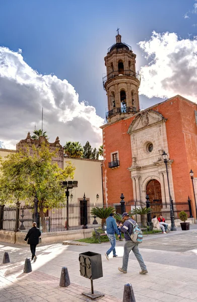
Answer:
<svg viewBox="0 0 197 302"><path fill-rule="evenodd" d="M41 128L44 110L44 131L50 141L58 135L61 144L67 140L87 140L93 146L102 143L104 119L87 102L79 102L75 88L55 75L33 70L23 59L22 50L14 52L0 47L0 140L7 148L26 137L28 131Z"/></svg>

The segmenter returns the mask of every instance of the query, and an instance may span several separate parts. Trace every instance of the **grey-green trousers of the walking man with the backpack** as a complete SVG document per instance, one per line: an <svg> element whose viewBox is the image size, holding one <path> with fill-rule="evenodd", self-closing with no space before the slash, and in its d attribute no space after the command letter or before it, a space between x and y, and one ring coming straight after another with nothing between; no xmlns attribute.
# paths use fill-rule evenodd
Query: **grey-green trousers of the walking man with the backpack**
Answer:
<svg viewBox="0 0 197 302"><path fill-rule="evenodd" d="M140 267L142 270L146 270L147 267L144 263L144 260L142 259L142 255L140 254L138 244L134 243L132 240L127 240L124 244L124 254L123 254L123 259L122 259L122 269L127 270L128 266L128 256L130 251L134 252L134 255L136 256Z"/></svg>

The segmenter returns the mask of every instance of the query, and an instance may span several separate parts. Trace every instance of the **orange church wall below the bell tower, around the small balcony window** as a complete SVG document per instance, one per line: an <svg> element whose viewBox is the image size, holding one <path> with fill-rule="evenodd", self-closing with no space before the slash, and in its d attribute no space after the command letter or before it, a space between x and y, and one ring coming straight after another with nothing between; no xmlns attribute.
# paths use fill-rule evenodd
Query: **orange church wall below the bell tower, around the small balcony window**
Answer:
<svg viewBox="0 0 197 302"><path fill-rule="evenodd" d="M130 135L127 134L128 127L134 117L120 120L117 123L108 125L103 129L104 146L104 167L107 180L107 202L117 203L120 201L121 193L124 194L124 200L133 199L133 183L130 178L130 172L127 170L132 165L132 151L130 145ZM111 153L118 151L120 166L117 169L108 168L108 162L111 162ZM104 174L104 171L103 171ZM105 189L104 189L105 196ZM106 197L106 196L105 196ZM105 199L105 198L104 198ZM105 199L106 200L106 199Z"/></svg>

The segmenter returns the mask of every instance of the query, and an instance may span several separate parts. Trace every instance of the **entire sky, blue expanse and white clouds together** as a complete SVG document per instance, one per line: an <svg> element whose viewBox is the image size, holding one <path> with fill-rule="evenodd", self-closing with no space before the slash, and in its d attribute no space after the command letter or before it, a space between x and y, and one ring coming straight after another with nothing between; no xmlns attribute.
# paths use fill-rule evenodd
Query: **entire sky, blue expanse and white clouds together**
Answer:
<svg viewBox="0 0 197 302"><path fill-rule="evenodd" d="M174 95L197 102L196 0L1 0L0 148L41 128L53 142L102 144L104 56L137 54L140 108Z"/></svg>

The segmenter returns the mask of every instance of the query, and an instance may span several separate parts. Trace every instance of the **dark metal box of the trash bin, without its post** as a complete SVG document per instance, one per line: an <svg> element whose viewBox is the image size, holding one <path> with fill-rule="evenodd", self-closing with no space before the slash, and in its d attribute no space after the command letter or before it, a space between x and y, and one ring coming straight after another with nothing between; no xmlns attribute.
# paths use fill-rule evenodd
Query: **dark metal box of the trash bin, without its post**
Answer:
<svg viewBox="0 0 197 302"><path fill-rule="evenodd" d="M85 252L79 254L81 276L94 280L103 277L101 254Z"/></svg>

